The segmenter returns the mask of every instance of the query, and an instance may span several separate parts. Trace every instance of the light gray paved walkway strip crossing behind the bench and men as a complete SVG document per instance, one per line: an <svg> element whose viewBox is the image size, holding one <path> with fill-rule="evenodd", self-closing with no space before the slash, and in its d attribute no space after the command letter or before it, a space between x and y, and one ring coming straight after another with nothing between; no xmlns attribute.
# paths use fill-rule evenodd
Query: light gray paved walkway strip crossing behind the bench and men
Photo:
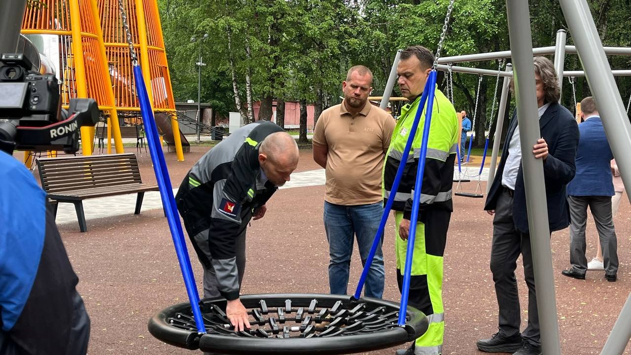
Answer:
<svg viewBox="0 0 631 355"><path fill-rule="evenodd" d="M469 169L463 167L463 173L466 172L469 178L474 181L478 179L477 174L479 170L479 167L469 167ZM454 179L456 178L457 168L454 172ZM480 178L482 181L488 179L487 167L483 169ZM324 185L324 181L324 169L296 172L292 174L292 180L288 181L281 189L319 186ZM177 188L173 189L173 193L174 195L177 193ZM85 219L91 220L114 215L133 214L135 206L136 194L129 194L85 200L83 202L83 211L85 212ZM158 193L158 191L144 193L142 211L155 210L157 208L162 208L160 193ZM72 203L59 203L56 222L57 224L77 223L76 212L74 211L74 205Z"/></svg>

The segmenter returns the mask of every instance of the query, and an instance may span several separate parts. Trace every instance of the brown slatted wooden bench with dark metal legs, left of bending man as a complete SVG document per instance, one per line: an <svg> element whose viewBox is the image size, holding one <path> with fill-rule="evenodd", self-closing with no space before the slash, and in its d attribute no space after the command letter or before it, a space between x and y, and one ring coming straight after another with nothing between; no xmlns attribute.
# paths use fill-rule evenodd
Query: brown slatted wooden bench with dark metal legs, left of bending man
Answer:
<svg viewBox="0 0 631 355"><path fill-rule="evenodd" d="M37 167L53 214L58 202L73 203L81 232L88 230L83 200L138 193L134 214L140 214L144 193L158 191L157 184L143 184L134 153L42 158Z"/></svg>

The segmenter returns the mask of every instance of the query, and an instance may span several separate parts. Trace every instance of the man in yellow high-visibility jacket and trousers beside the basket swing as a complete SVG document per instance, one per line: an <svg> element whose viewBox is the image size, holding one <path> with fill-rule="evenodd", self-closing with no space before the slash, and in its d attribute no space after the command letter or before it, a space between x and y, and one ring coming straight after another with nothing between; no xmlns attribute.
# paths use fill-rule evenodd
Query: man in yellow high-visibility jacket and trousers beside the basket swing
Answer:
<svg viewBox="0 0 631 355"><path fill-rule="evenodd" d="M392 140L384 163L384 201L394 198L392 210L396 221L397 280L399 291L403 286L408 232L412 211L412 197L416 181L416 167L420 157L425 112L422 112L412 148L399 184L398 191L392 193L392 183L397 168L403 159L403 150L411 131L420 97L425 88L434 56L420 45L409 47L401 52L397 66L401 95L410 102L401 109L401 116L392 133ZM437 355L442 353L442 340L445 329L442 306L442 270L447 228L451 218L451 188L454 176L454 162L460 135L454 106L437 88L433 100L432 123L425 157L425 172L420 195L420 210L416 226L416 241L410 282L409 304L427 315L430 322L425 334L416 339L407 350L397 351L397 355ZM421 109L424 108L422 107Z"/></svg>

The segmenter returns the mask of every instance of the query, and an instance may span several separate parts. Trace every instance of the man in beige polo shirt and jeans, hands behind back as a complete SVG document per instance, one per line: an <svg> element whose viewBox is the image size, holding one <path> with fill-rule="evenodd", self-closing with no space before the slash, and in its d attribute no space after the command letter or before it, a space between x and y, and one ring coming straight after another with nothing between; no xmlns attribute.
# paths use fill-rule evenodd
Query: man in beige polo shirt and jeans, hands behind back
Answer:
<svg viewBox="0 0 631 355"><path fill-rule="evenodd" d="M384 211L381 171L395 122L368 102L372 72L365 66L348 69L342 82L344 100L322 112L313 137L314 160L326 169L324 228L329 241L331 294L346 294L353 239L365 264ZM366 278L365 296L384 292L381 245Z"/></svg>

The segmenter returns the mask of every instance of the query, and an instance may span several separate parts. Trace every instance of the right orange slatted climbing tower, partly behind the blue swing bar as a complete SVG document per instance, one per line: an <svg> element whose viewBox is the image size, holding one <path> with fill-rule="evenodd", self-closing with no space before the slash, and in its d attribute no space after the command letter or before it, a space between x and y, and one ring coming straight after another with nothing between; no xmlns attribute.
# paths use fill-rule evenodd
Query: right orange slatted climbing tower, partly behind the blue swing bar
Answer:
<svg viewBox="0 0 631 355"><path fill-rule="evenodd" d="M158 3L156 0L122 0L122 2L127 14L131 41L143 68L151 107L155 112L165 112L171 116L177 159L184 160L179 126L175 118L175 100L168 73ZM129 44L123 27L119 0L98 0L98 11L117 109L139 111L138 98L134 90L133 68L129 57Z"/></svg>

